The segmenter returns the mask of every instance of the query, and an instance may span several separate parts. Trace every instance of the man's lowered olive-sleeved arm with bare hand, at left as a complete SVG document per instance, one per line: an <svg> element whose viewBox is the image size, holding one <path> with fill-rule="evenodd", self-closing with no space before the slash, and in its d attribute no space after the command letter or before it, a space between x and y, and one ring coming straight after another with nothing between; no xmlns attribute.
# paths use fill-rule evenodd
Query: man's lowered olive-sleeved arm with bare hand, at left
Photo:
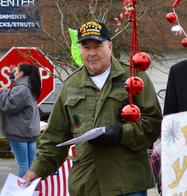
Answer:
<svg viewBox="0 0 187 196"><path fill-rule="evenodd" d="M25 175L27 182L36 177L47 177L56 171L67 157L69 146L56 147L57 144L72 138L69 117L63 103L62 93L54 105L47 129L39 138L36 159Z"/></svg>

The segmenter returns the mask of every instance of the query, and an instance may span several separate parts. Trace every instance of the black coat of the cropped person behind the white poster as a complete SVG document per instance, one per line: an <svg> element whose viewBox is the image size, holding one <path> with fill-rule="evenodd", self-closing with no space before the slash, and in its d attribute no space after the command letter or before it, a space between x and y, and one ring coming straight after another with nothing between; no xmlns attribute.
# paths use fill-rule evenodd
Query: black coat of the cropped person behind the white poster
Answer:
<svg viewBox="0 0 187 196"><path fill-rule="evenodd" d="M187 60L171 67L164 104L164 115L182 111L187 111Z"/></svg>

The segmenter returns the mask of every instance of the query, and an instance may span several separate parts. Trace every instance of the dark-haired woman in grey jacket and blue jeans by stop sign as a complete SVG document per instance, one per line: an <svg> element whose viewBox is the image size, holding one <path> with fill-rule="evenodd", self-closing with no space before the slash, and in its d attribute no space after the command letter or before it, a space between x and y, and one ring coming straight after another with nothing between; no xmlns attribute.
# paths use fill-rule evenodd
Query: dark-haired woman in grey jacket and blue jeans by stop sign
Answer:
<svg viewBox="0 0 187 196"><path fill-rule="evenodd" d="M23 177L36 155L36 139L40 133L37 99L41 91L39 69L27 63L14 72L14 84L0 90L0 110L5 113L5 134Z"/></svg>

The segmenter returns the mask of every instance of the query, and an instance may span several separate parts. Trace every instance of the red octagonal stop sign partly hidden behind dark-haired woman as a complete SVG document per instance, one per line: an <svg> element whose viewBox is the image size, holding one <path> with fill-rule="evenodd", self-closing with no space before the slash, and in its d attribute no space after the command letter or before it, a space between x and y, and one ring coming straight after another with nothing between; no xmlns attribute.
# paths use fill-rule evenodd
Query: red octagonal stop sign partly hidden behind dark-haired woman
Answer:
<svg viewBox="0 0 187 196"><path fill-rule="evenodd" d="M54 65L38 48L13 47L0 60L0 89L9 88L8 77L10 65L19 63L35 64L39 67L42 79L41 95L38 104L42 103L54 91Z"/></svg>

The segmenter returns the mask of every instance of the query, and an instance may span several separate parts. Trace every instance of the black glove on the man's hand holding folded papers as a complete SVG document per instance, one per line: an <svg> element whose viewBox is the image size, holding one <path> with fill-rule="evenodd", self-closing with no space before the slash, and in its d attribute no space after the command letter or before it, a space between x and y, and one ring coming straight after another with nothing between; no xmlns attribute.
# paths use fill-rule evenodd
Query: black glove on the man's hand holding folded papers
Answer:
<svg viewBox="0 0 187 196"><path fill-rule="evenodd" d="M122 135L123 135L122 126L112 125L106 127L104 134L100 135L97 138L89 140L89 143L94 145L111 146L111 145L119 144Z"/></svg>

